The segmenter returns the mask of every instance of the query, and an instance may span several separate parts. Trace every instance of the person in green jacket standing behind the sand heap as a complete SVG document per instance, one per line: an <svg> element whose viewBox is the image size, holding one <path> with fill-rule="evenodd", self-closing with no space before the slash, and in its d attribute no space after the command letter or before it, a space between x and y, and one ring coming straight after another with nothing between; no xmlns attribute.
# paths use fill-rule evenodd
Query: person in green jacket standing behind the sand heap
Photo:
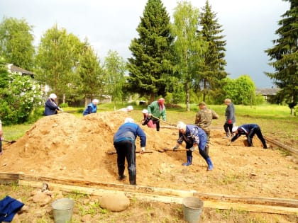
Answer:
<svg viewBox="0 0 298 223"><path fill-rule="evenodd" d="M156 130L160 130L160 117L166 121L165 113L165 98L160 98L158 101L153 101L148 105L148 117L152 118L153 124L156 124Z"/></svg>

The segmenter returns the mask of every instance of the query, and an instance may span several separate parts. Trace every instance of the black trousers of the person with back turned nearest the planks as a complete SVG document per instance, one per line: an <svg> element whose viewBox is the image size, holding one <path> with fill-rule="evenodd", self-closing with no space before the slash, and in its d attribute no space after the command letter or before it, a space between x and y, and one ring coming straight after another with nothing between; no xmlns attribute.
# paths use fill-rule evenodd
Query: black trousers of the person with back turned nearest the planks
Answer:
<svg viewBox="0 0 298 223"><path fill-rule="evenodd" d="M115 142L114 147L117 151L118 175L123 176L126 159L129 178L136 179L136 145L131 141L121 141Z"/></svg>

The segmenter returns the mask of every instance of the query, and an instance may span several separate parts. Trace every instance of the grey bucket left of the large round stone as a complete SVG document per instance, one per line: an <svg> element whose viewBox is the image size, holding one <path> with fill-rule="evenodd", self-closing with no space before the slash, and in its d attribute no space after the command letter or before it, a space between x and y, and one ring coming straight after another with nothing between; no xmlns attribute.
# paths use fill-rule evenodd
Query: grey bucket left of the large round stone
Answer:
<svg viewBox="0 0 298 223"><path fill-rule="evenodd" d="M70 198L62 198L52 203L55 223L65 223L72 220L72 210L75 201Z"/></svg>

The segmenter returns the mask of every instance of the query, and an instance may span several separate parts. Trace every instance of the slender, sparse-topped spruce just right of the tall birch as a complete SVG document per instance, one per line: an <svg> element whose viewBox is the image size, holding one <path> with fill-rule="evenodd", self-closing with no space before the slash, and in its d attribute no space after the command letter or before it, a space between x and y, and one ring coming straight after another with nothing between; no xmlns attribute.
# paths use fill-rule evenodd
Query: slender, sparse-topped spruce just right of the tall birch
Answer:
<svg viewBox="0 0 298 223"><path fill-rule="evenodd" d="M227 76L224 59L226 40L223 40L222 25L219 25L216 13L211 11L209 1L206 1L202 8L199 23L202 27L199 33L208 44L208 50L204 54L204 65L197 79L197 88L203 88L203 101L205 101L209 90L216 91L221 88L221 80Z"/></svg>

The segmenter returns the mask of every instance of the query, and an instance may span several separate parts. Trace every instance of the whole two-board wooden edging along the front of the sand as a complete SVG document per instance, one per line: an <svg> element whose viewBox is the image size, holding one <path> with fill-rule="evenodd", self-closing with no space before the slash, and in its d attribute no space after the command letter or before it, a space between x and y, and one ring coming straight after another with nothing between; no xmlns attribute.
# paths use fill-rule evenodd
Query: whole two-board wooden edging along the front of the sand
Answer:
<svg viewBox="0 0 298 223"><path fill-rule="evenodd" d="M74 179L57 179L45 176L31 176L18 173L0 173L0 180L18 180L19 185L31 185L42 188L43 183L48 183L50 190L72 192L79 190L82 193L101 196L108 192L125 193L128 198L137 198L148 202L165 202L182 204L182 198L197 197L204 201L204 207L248 210L250 212L267 212L276 214L298 214L298 200L284 198L254 198L236 195L219 195L197 193L186 190L172 190L168 188L153 188L147 186L123 185L116 183L98 183L93 181L79 181ZM237 207L237 208L236 208Z"/></svg>

